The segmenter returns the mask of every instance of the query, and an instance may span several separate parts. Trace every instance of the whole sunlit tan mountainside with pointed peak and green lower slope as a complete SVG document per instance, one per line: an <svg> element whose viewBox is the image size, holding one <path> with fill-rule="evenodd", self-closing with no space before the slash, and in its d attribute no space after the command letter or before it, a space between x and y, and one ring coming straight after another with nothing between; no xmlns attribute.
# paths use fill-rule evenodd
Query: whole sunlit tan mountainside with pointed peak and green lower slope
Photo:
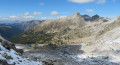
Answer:
<svg viewBox="0 0 120 65"><path fill-rule="evenodd" d="M98 15L93 18L97 18L96 22L85 22L77 12L66 18L47 20L31 30L11 38L11 41L15 43L92 44L99 36L119 26L119 20L104 22L98 20Z"/></svg>

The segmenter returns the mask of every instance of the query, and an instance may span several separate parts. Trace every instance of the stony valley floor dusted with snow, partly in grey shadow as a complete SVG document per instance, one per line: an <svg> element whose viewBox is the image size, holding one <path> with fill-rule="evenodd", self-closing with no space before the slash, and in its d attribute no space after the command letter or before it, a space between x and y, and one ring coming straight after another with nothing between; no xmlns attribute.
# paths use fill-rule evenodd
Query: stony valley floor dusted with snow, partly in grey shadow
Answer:
<svg viewBox="0 0 120 65"><path fill-rule="evenodd" d="M27 49L27 47L25 48ZM58 47L53 45L43 46L40 49L29 49L24 54L39 57L41 61L46 61L54 65L119 65L119 53L113 51L87 53L81 49L83 48L80 44Z"/></svg>

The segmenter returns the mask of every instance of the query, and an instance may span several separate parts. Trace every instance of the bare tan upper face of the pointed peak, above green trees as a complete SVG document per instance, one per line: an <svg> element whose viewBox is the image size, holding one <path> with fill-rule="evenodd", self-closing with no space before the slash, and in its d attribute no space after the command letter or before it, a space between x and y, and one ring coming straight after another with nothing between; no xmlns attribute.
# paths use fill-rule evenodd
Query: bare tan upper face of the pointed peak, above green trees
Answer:
<svg viewBox="0 0 120 65"><path fill-rule="evenodd" d="M47 20L38 26L34 27L33 30L37 29L38 31L46 31L46 32L59 32L63 31L66 28L80 28L85 25L85 22L81 15L76 12L74 15L65 17L65 18L59 18L59 19L52 19Z"/></svg>

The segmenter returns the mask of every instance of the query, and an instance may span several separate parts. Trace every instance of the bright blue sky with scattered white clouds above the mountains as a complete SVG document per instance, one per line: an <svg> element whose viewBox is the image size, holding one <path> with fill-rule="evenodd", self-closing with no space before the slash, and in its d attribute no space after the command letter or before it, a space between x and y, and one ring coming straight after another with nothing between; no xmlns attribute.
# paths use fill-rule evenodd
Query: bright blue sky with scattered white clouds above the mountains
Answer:
<svg viewBox="0 0 120 65"><path fill-rule="evenodd" d="M120 0L0 0L0 20L56 18L80 14L120 16Z"/></svg>

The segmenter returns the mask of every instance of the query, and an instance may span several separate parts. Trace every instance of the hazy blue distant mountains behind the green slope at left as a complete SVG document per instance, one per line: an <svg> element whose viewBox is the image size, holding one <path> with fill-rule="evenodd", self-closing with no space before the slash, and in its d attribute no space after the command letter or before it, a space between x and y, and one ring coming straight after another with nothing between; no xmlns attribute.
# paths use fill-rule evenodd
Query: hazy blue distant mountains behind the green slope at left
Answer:
<svg viewBox="0 0 120 65"><path fill-rule="evenodd" d="M32 20L22 23L12 23L12 24L0 24L0 34L9 39L15 35L19 35L27 30L30 30L32 27L40 24L40 20Z"/></svg>

